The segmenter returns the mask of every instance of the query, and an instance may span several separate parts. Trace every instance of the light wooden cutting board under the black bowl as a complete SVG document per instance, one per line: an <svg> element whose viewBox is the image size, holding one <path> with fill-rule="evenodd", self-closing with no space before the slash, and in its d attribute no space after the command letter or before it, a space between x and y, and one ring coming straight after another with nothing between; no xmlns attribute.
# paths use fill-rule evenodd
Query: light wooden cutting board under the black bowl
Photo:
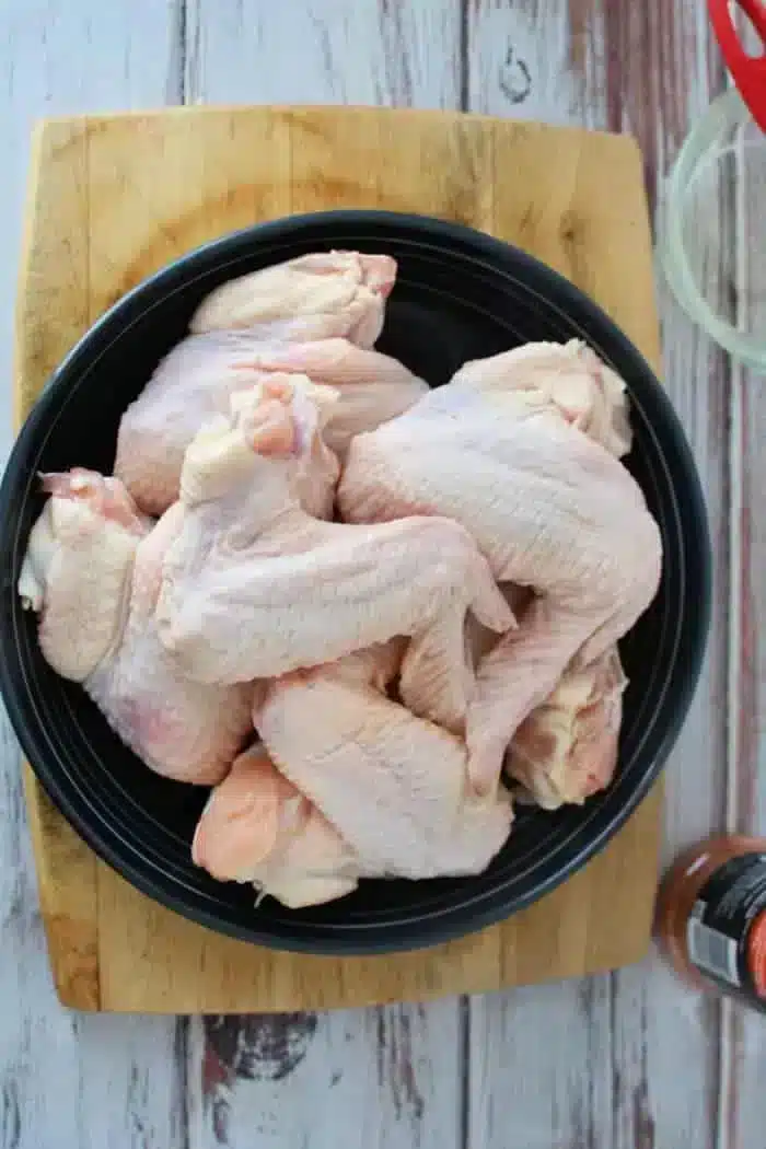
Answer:
<svg viewBox="0 0 766 1149"><path fill-rule="evenodd" d="M534 253L658 365L651 241L633 139L451 113L193 108L42 123L17 308L16 414L88 325L169 260L256 221L333 207L421 211ZM637 961L660 795L529 910L430 951L371 958L235 942L137 893L26 770L51 965L79 1009L246 1012L478 993Z"/></svg>

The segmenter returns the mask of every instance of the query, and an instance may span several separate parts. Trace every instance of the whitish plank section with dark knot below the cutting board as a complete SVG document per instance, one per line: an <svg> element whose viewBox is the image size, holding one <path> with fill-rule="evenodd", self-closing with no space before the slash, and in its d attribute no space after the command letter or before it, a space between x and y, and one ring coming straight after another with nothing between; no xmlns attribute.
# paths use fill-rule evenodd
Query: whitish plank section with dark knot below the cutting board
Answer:
<svg viewBox="0 0 766 1149"><path fill-rule="evenodd" d="M348 1149L457 1147L461 1024L451 1001L195 1021L191 1144L333 1149L342 1120Z"/></svg>

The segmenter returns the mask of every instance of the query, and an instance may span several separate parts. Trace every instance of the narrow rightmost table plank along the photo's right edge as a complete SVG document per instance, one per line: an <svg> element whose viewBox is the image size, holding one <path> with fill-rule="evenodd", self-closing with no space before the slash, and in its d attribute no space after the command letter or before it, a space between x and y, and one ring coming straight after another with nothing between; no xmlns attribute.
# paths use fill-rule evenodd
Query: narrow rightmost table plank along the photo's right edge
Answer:
<svg viewBox="0 0 766 1149"><path fill-rule="evenodd" d="M755 51L755 44L750 40ZM745 137L750 142L753 134ZM766 323L766 149L736 155L734 202L737 310L750 331ZM766 827L766 523L760 498L766 483L766 372L734 363L730 394L730 626L727 827L764 834ZM720 1088L726 1149L745 1149L766 1126L761 1016L727 1002L722 1011L724 1069Z"/></svg>

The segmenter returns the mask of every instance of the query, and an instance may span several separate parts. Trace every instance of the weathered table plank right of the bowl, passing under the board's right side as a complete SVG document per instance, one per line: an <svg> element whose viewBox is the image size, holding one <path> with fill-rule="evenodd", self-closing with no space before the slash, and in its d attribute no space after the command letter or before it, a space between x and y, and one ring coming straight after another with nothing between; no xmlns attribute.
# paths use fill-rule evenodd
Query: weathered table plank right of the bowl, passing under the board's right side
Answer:
<svg viewBox="0 0 766 1149"><path fill-rule="evenodd" d="M630 130L653 201L665 167L721 82L709 59L714 52L704 11L690 0L653 8L629 0L529 0L512 10L472 0L467 8L471 108ZM703 476L715 585L725 588L726 362L666 292L660 315L665 380ZM722 817L726 637L719 589L706 669L666 772L667 858ZM712 1146L718 1012L714 1002L687 994L655 958L594 979L587 993L571 984L473 1000L470 1143L505 1146L521 1111L531 1147ZM541 1016L571 1019L566 1040L533 1047ZM546 1082L540 1088L529 1086L531 1048L534 1079Z"/></svg>

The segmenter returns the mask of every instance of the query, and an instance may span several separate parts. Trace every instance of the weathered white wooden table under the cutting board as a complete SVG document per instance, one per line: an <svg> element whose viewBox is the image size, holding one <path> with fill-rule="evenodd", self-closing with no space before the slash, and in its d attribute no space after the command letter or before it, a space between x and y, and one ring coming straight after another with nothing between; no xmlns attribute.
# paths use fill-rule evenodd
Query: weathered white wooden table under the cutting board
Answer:
<svg viewBox="0 0 766 1149"><path fill-rule="evenodd" d="M8 387L37 116L314 101L586 123L639 136L657 196L724 83L701 0L0 0L0 373ZM766 828L766 383L661 286L660 302L667 386L715 549L706 671L667 770L670 858L712 827ZM6 402L3 454L10 433ZM766 1143L764 1018L686 994L655 958L428 1007L204 1021L64 1012L6 723L0 739L1 1149Z"/></svg>

